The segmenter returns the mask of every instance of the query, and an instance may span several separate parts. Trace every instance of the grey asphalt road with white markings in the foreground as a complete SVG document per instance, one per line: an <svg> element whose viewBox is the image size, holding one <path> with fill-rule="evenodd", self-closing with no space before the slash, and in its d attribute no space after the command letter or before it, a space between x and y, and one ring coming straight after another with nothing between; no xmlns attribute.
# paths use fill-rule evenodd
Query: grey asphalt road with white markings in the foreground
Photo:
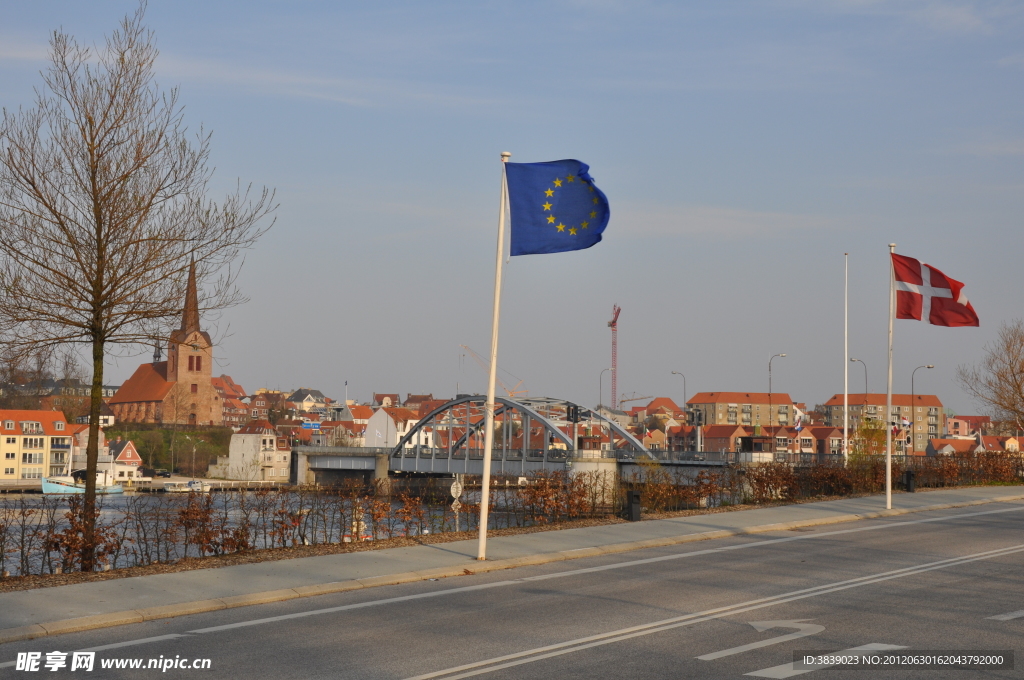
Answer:
<svg viewBox="0 0 1024 680"><path fill-rule="evenodd" d="M800 675L1020 678L1022 567L1024 504L992 504L10 643L0 646L0 676L795 677L795 649L876 645L1013 650L1018 670ZM82 649L96 650L91 673L9 664L17 652L42 652L45 663L46 652ZM99 668L104 660L139 658L144 667L161 657L209 658L211 668Z"/></svg>

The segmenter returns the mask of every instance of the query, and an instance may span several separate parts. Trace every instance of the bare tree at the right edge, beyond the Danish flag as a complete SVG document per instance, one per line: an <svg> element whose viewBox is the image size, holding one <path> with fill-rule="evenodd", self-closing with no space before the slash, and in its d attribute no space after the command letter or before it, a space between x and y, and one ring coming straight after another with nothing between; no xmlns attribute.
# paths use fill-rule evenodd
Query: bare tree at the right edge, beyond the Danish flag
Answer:
<svg viewBox="0 0 1024 680"><path fill-rule="evenodd" d="M957 368L956 380L994 420L1024 426L1024 322L1004 324L981 364Z"/></svg>

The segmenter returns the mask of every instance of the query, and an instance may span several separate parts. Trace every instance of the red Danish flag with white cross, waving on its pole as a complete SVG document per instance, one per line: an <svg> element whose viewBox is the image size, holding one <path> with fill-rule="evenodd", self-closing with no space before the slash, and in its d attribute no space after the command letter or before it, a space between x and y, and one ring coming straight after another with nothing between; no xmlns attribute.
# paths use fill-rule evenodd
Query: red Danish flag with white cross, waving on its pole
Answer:
<svg viewBox="0 0 1024 680"><path fill-rule="evenodd" d="M892 254L896 278L896 318L928 321L934 326L979 326L964 294L964 284L931 264Z"/></svg>

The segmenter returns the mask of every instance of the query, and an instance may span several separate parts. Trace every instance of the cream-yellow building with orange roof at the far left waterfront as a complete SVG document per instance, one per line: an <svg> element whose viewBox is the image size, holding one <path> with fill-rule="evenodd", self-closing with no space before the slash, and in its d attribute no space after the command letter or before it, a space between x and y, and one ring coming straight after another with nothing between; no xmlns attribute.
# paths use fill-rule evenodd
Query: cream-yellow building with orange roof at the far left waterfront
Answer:
<svg viewBox="0 0 1024 680"><path fill-rule="evenodd" d="M71 439L59 411L0 411L0 480L62 474Z"/></svg>

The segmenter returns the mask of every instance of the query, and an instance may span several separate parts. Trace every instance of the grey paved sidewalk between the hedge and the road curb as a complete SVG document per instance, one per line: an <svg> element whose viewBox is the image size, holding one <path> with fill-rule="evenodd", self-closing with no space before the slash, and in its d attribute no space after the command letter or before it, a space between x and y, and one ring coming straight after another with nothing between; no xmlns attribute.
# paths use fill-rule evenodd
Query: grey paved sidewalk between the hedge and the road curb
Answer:
<svg viewBox="0 0 1024 680"><path fill-rule="evenodd" d="M527 564L966 505L1024 500L1024 486L843 499L709 515L240 564L0 594L0 643L249 604Z"/></svg>

